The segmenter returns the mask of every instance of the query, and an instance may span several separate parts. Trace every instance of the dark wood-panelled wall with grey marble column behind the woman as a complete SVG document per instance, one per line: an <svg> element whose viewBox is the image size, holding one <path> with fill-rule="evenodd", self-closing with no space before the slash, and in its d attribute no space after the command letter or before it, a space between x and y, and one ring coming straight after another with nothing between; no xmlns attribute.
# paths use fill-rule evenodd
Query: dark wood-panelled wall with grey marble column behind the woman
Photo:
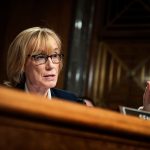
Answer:
<svg viewBox="0 0 150 150"><path fill-rule="evenodd" d="M142 105L150 78L150 0L1 0L0 83L10 42L33 26L53 29L63 43L57 87L96 106Z"/></svg>

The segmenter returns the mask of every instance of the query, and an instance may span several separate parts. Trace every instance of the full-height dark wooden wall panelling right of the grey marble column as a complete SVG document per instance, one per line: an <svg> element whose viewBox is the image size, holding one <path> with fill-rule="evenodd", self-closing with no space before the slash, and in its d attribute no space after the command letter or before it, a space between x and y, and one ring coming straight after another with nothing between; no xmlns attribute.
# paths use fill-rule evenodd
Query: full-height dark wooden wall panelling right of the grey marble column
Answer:
<svg viewBox="0 0 150 150"><path fill-rule="evenodd" d="M85 94L111 110L118 111L119 105L138 108L150 79L150 2L96 3Z"/></svg>

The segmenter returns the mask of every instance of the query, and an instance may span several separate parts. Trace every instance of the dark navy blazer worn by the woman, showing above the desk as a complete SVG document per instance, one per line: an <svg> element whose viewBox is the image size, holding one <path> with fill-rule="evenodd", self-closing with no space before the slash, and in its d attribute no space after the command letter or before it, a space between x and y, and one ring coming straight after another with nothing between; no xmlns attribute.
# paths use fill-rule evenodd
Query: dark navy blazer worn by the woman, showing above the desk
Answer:
<svg viewBox="0 0 150 150"><path fill-rule="evenodd" d="M25 89L25 84L18 84L16 86L17 89ZM72 102L77 102L81 104L85 104L83 99L78 98L74 93L71 93L69 91L61 90L61 89L56 89L56 88L51 88L51 96L60 98L66 101L72 101Z"/></svg>

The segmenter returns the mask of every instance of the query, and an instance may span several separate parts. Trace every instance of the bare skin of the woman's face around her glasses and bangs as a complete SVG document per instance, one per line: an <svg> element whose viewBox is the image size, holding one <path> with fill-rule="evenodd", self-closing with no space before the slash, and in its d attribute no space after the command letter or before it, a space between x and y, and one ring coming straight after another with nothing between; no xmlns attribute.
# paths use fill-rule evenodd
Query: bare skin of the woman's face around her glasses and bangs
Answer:
<svg viewBox="0 0 150 150"><path fill-rule="evenodd" d="M50 38L49 42L51 46L51 53L49 55L59 54L60 50L56 41L53 38ZM43 51L42 53L44 53L42 46L40 49ZM28 86L38 89L48 89L56 86L60 71L60 63L53 63L49 57L46 63L37 65L32 57L28 57L24 70Z"/></svg>

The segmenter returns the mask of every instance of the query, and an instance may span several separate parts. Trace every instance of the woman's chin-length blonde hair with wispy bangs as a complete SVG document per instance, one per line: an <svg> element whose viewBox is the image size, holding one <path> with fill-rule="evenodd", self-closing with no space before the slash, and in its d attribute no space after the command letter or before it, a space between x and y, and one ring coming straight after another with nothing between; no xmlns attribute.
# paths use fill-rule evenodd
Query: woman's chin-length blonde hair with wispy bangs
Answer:
<svg viewBox="0 0 150 150"><path fill-rule="evenodd" d="M49 38L53 38L61 51L61 40L58 35L48 28L32 27L19 33L10 44L7 55L7 76L12 86L23 82L24 65L29 54L37 53L41 44L44 44L47 53ZM32 49L31 49L32 48ZM60 64L60 70L62 63Z"/></svg>

